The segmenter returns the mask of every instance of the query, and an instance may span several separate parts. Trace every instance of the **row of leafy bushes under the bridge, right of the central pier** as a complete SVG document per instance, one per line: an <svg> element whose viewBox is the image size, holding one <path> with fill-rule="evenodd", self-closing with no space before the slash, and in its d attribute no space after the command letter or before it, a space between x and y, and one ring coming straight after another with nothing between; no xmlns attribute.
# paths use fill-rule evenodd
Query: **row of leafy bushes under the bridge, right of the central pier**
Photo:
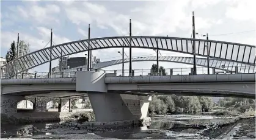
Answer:
<svg viewBox="0 0 256 140"><path fill-rule="evenodd" d="M153 96L148 111L151 114L197 113L211 111L211 97Z"/></svg>

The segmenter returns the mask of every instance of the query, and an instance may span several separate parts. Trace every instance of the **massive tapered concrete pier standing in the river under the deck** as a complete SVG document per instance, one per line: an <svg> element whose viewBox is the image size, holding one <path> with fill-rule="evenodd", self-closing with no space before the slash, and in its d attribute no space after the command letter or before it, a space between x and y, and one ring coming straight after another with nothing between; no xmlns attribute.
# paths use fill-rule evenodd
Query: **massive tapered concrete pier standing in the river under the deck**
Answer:
<svg viewBox="0 0 256 140"><path fill-rule="evenodd" d="M147 117L151 96L115 93L88 93L96 120L125 121Z"/></svg>

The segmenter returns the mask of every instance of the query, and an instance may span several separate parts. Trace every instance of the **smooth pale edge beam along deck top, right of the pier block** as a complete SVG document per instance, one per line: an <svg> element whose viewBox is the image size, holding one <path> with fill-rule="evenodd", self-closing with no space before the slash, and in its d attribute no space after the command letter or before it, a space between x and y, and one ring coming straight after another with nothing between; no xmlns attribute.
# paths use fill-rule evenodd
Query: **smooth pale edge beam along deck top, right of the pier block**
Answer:
<svg viewBox="0 0 256 140"><path fill-rule="evenodd" d="M255 74L106 77L105 83L255 82Z"/></svg>

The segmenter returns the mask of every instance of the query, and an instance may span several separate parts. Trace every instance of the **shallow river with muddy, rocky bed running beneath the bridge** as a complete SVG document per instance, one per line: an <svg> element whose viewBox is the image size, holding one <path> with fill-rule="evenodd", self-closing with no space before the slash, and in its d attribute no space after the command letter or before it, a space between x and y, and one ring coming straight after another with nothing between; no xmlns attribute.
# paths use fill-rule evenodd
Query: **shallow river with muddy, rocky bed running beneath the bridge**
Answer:
<svg viewBox="0 0 256 140"><path fill-rule="evenodd" d="M255 117L250 125L241 123L236 117L217 117L209 114L183 114L169 116L152 116L152 122L142 127L95 128L75 125L30 124L2 125L1 138L31 138L31 139L236 139L249 134L255 138ZM237 125L243 124L238 130ZM254 130L254 133L252 132ZM233 133L232 133L233 131ZM244 132L246 131L246 132ZM236 133L235 133L236 132ZM248 132L248 133L247 133ZM232 133L234 136L227 136Z"/></svg>

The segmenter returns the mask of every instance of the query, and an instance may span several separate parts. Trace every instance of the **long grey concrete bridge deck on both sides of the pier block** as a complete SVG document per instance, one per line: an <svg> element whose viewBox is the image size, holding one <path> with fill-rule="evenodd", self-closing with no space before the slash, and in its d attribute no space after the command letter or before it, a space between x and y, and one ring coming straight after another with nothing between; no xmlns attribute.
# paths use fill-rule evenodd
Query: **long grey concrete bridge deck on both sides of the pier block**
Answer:
<svg viewBox="0 0 256 140"><path fill-rule="evenodd" d="M189 96L235 96L255 98L255 74L166 75L117 77L105 74L106 92L125 94L183 94ZM87 81L87 80L83 80ZM91 82L91 81L90 81ZM2 95L48 97L82 96L76 78L4 79ZM86 83L86 82L84 82ZM88 92L93 92L88 90ZM97 92L97 91L95 91Z"/></svg>

